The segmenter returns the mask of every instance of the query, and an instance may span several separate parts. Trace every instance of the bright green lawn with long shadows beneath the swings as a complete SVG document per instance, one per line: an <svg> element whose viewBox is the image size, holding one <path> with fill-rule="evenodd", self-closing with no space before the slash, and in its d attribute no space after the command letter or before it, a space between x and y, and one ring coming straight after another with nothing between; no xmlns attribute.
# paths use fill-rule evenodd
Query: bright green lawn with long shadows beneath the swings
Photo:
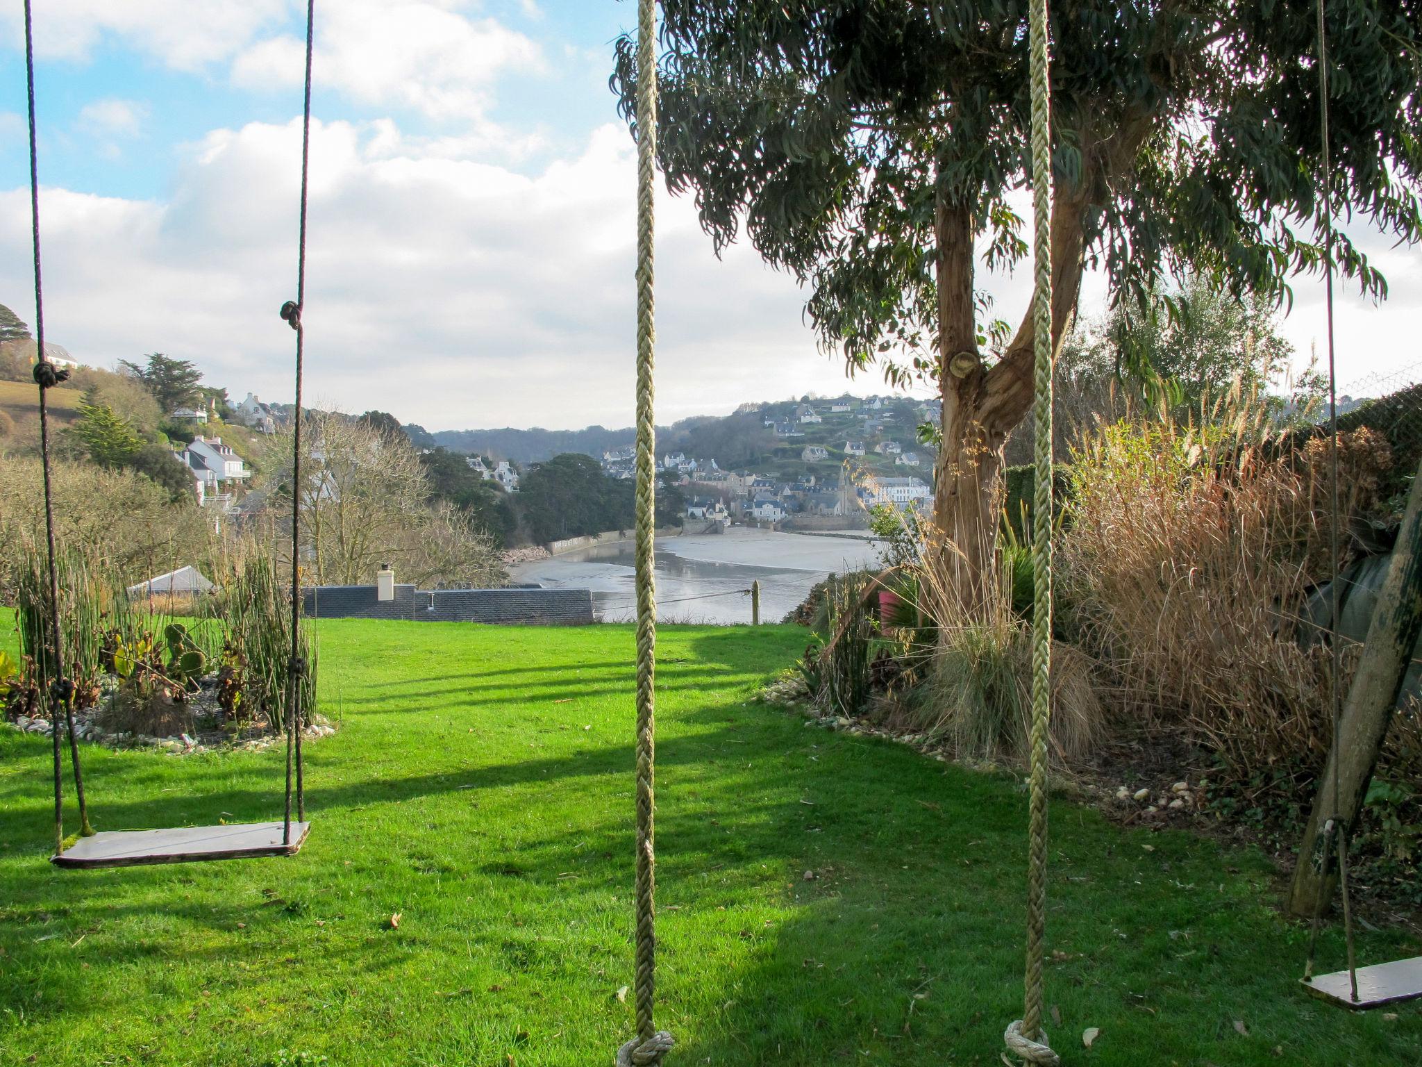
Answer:
<svg viewBox="0 0 1422 1067"><path fill-rule="evenodd" d="M631 630L328 622L320 642L343 728L309 750L293 859L54 869L47 741L0 731L0 1063L611 1061L631 1031ZM1020 1007L1024 797L758 704L803 643L660 637L668 1063L995 1064ZM100 828L280 815L274 751L87 755ZM1065 801L1052 818L1068 1063L1418 1061L1415 1006L1349 1016L1297 989L1305 929L1258 854ZM1325 950L1341 959L1335 935Z"/></svg>

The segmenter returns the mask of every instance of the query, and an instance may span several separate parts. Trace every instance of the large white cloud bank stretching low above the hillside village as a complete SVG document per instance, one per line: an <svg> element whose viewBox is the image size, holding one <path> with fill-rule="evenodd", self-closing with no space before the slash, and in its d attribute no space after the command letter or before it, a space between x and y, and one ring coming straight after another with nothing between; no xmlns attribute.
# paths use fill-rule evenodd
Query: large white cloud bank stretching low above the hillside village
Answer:
<svg viewBox="0 0 1422 1067"><path fill-rule="evenodd" d="M629 425L634 166L597 129L536 175L422 154L390 124L313 131L311 396L431 428ZM165 202L44 191L55 340L111 364L196 360L239 396L290 396L300 127L192 147ZM843 388L793 282L748 248L724 262L690 202L658 202L658 417ZM0 293L28 290L24 192L0 195ZM23 300L20 300L23 303ZM877 381L866 387L877 387Z"/></svg>

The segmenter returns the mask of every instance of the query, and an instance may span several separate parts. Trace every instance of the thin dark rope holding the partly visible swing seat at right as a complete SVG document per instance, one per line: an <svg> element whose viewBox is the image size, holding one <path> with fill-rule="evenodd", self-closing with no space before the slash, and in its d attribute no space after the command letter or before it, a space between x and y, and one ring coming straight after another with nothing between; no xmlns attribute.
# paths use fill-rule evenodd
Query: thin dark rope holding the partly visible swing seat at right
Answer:
<svg viewBox="0 0 1422 1067"><path fill-rule="evenodd" d="M1338 623L1342 610L1341 589L1338 588L1338 373L1334 363L1334 215L1332 215L1332 174L1331 154L1328 144L1328 34L1324 21L1325 0L1318 0L1318 124L1320 124L1320 169L1322 172L1321 195L1324 209L1324 306L1327 309L1327 343L1328 343L1328 556L1332 580L1328 589L1328 643L1331 660L1328 670L1328 701L1332 711L1332 809L1334 815L1324 824L1324 852L1320 878L1322 885L1328 881L1330 844L1338 856L1340 888L1342 891L1344 936L1348 945L1348 980L1352 987L1352 999L1358 1000L1358 967L1354 953L1352 938L1352 909L1348 902L1348 827L1342 818L1342 797L1340 781L1340 763L1342 758L1342 694L1338 679L1342 673L1342 649L1338 642ZM1332 839L1337 838L1337 842ZM1300 856L1298 862L1308 862L1308 856ZM1320 886L1321 889L1322 886ZM1314 956L1318 945L1318 926L1327 901L1320 891L1314 901L1313 926L1308 933L1308 959L1304 965L1305 979L1313 977Z"/></svg>

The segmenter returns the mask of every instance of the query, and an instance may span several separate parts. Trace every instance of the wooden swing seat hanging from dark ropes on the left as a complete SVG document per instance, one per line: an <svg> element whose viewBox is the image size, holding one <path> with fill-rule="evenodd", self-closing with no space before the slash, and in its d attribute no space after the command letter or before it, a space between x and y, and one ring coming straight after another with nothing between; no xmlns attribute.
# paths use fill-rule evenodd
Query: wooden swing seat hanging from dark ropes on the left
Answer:
<svg viewBox="0 0 1422 1067"><path fill-rule="evenodd" d="M310 828L310 822L293 822L290 844L282 841L280 822L239 822L230 827L175 829L107 829L94 837L80 838L73 848L50 856L50 862L65 868L91 868L290 856L301 849Z"/></svg>

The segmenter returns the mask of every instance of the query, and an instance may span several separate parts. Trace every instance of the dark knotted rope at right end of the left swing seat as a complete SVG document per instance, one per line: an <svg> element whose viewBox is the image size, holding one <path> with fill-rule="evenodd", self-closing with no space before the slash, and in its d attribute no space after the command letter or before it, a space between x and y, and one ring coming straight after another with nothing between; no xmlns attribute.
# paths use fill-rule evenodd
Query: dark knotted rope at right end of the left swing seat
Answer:
<svg viewBox="0 0 1422 1067"><path fill-rule="evenodd" d="M282 844L292 844L292 763L296 761L296 817L306 818L306 782L301 765L301 687L306 677L306 657L301 656L301 364L304 360L306 329L301 310L306 307L306 196L311 161L311 41L316 21L316 0L306 0L306 98L301 112L301 223L296 253L296 300L282 304L282 317L296 330L296 405L292 415L292 659L287 663L286 718L286 811L282 815Z"/></svg>

